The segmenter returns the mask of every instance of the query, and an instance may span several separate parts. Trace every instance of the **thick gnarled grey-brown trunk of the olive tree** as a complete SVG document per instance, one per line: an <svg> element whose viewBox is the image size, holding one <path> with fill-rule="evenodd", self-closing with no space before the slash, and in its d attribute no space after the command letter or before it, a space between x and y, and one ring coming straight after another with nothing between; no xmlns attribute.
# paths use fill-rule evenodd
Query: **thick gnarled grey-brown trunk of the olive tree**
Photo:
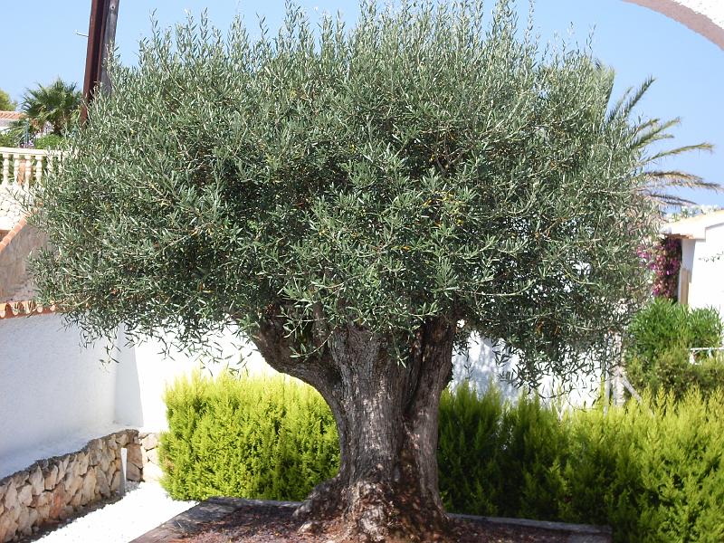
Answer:
<svg viewBox="0 0 724 543"><path fill-rule="evenodd" d="M307 521L303 529L333 526L355 541L445 539L437 424L453 334L443 319L426 322L402 365L381 338L350 324L327 333L323 347L302 361L291 357L281 323L262 324L254 338L262 356L314 386L337 423L339 472L295 513Z"/></svg>

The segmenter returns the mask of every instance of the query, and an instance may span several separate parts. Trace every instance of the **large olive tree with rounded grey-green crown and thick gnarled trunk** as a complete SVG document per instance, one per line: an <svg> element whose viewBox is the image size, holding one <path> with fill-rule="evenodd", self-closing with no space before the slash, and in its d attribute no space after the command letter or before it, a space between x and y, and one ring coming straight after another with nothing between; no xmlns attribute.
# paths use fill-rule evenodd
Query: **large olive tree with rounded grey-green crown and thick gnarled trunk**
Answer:
<svg viewBox="0 0 724 543"><path fill-rule="evenodd" d="M189 20L110 74L34 195L43 300L90 338L124 323L188 346L234 323L316 388L340 466L297 514L321 529L444 534L453 348L500 339L535 383L590 363L636 306L651 125L506 1L364 4L354 28L292 7L253 39Z"/></svg>

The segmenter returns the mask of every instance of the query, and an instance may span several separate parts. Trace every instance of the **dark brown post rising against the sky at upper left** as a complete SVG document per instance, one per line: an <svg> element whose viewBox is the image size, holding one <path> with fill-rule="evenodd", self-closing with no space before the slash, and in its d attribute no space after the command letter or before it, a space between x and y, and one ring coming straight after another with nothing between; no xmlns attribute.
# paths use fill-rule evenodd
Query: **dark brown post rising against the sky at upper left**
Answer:
<svg viewBox="0 0 724 543"><path fill-rule="evenodd" d="M105 69L109 48L116 38L120 0L91 0L90 22L88 25L88 48L85 56L85 78L83 80L83 98L85 105L81 110L81 121L88 117L86 105L93 100L99 89L110 92L110 80Z"/></svg>

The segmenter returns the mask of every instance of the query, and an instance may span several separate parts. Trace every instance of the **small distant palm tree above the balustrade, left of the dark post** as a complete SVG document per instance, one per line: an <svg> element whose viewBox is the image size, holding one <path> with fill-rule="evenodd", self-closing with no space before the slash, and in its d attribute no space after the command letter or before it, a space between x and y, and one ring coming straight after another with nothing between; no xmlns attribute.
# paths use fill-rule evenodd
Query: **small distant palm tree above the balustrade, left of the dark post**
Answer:
<svg viewBox="0 0 724 543"><path fill-rule="evenodd" d="M63 136L81 111L82 93L75 83L58 78L48 86L25 91L22 110L33 133L51 127L52 134Z"/></svg>

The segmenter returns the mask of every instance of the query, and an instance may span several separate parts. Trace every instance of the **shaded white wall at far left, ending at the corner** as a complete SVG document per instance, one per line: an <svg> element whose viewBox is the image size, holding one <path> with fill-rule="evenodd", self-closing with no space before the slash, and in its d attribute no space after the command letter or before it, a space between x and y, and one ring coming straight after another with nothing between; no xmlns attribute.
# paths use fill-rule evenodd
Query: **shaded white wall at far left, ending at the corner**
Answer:
<svg viewBox="0 0 724 543"><path fill-rule="evenodd" d="M116 367L104 355L58 315L0 320L0 477L113 423Z"/></svg>

